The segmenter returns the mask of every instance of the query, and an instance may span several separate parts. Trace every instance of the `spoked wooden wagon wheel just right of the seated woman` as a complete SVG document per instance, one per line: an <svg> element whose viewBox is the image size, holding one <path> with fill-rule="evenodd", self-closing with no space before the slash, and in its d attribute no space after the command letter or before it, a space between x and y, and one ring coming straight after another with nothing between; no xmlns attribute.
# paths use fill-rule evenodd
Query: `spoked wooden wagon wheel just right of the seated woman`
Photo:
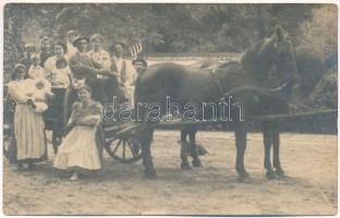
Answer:
<svg viewBox="0 0 340 218"><path fill-rule="evenodd" d="M142 158L141 143L133 136L113 137L104 147L113 159L123 164L136 162Z"/></svg>

